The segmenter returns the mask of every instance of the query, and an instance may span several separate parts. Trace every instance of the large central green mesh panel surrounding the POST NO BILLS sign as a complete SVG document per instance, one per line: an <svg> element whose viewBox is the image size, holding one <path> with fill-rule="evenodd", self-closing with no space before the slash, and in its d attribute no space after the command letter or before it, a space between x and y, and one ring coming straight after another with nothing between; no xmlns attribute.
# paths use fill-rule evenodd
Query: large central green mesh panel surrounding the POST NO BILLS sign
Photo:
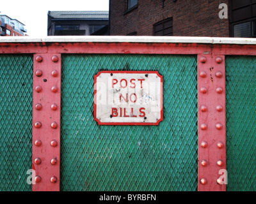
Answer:
<svg viewBox="0 0 256 204"><path fill-rule="evenodd" d="M191 55L63 55L61 191L196 191L197 61ZM163 75L159 126L99 126L94 75Z"/></svg>

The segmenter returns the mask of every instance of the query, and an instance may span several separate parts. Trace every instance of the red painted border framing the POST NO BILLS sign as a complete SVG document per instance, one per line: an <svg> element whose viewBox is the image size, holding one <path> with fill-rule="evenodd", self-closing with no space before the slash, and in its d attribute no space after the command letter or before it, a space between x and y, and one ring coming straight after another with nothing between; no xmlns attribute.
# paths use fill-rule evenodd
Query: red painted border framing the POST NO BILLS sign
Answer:
<svg viewBox="0 0 256 204"><path fill-rule="evenodd" d="M96 83L97 77L102 73L128 73L128 74L152 74L155 73L161 79L161 118L157 122L100 122L96 117L97 113L97 94ZM158 71L99 71L97 75L94 75L94 120L99 125L111 125L111 126L158 126L159 122L163 121L163 76Z"/></svg>

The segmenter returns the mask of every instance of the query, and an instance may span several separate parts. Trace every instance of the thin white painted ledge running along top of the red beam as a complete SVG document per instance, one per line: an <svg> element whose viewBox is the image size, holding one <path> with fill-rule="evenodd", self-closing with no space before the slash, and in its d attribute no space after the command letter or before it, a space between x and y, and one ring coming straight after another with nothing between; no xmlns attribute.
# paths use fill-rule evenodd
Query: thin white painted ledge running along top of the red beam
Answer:
<svg viewBox="0 0 256 204"><path fill-rule="evenodd" d="M0 37L0 43L204 43L204 44L236 44L256 45L256 38L211 38L180 36L47 36L44 38Z"/></svg>

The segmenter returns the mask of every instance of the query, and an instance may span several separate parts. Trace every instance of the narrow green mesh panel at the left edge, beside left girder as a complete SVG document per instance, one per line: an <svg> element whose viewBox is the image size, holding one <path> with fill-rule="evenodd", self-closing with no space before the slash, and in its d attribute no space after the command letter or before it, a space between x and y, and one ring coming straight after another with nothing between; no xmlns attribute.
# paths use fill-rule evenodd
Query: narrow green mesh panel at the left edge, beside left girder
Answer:
<svg viewBox="0 0 256 204"><path fill-rule="evenodd" d="M0 55L0 191L31 191L33 55Z"/></svg>

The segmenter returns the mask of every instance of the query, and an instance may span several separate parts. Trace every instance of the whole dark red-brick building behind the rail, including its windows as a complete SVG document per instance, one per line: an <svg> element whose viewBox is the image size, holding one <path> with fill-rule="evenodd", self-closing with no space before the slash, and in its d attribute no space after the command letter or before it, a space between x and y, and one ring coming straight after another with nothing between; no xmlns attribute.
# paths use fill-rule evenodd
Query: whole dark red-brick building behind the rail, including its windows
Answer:
<svg viewBox="0 0 256 204"><path fill-rule="evenodd" d="M255 20L255 0L109 0L109 35L250 38Z"/></svg>

